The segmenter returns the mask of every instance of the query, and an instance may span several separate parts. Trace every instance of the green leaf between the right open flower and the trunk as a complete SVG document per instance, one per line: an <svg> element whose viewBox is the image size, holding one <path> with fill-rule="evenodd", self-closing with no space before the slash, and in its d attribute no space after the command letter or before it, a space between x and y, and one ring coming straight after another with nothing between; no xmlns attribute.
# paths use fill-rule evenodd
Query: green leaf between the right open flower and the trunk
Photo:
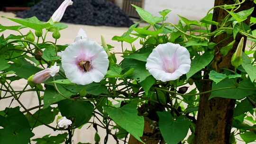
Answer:
<svg viewBox="0 0 256 144"><path fill-rule="evenodd" d="M207 66L212 61L213 57L213 54L210 52L205 52L203 55L197 55L191 62L190 71L186 74L187 79Z"/></svg>

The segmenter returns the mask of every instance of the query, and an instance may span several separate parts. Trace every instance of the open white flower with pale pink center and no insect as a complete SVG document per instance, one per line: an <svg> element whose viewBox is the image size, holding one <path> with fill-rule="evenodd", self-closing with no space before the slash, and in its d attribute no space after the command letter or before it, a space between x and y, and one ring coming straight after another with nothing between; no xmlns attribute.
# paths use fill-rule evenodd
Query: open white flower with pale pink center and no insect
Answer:
<svg viewBox="0 0 256 144"><path fill-rule="evenodd" d="M146 69L156 80L173 81L189 72L191 65L188 50L178 44L160 44L146 60Z"/></svg>

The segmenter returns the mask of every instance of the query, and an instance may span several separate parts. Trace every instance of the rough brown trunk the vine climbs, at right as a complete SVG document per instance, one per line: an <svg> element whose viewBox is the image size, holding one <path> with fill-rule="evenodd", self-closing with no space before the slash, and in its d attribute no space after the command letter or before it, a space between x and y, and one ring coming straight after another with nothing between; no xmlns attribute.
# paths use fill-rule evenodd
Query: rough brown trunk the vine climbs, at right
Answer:
<svg viewBox="0 0 256 144"><path fill-rule="evenodd" d="M234 0L215 0L214 5L218 6L224 4L234 4ZM246 0L238 11L250 9L251 7L253 7L253 1ZM214 9L213 20L221 22L227 15L228 13L224 9ZM245 22L249 23L249 18ZM216 29L216 26L211 27L211 31ZM216 46L215 58L212 64L212 67L217 72L221 72L221 68L233 69L231 65L231 57L235 53L242 36L238 34L233 48L229 51L229 54L223 57L219 53L220 48L233 41L233 36L231 36L229 39L221 42L221 40L224 40L227 37L227 34L224 33L217 37L212 37L210 40L214 43L220 42L220 44ZM244 41L244 48L245 45L246 37ZM209 79L208 74L204 79ZM202 82L203 88L201 91L211 90L212 83L210 81ZM202 94L200 96L194 144L229 144L235 100L223 98L213 98L208 100L209 96L210 93Z"/></svg>

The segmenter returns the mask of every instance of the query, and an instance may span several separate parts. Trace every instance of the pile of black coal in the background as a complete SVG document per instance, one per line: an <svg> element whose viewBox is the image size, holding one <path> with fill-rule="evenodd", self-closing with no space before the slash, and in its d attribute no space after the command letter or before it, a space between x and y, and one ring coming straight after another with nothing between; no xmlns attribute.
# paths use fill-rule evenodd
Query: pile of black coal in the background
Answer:
<svg viewBox="0 0 256 144"><path fill-rule="evenodd" d="M36 16L42 21L48 21L63 0L42 0L31 9L18 12L19 18ZM73 5L66 9L61 22L92 25L129 27L133 22L115 4L106 0L73 0Z"/></svg>

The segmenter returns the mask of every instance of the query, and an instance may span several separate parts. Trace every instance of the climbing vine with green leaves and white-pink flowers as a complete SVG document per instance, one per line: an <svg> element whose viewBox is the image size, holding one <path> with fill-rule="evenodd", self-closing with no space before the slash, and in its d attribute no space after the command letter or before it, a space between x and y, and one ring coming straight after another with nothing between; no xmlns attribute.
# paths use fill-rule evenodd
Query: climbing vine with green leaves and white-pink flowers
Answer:
<svg viewBox="0 0 256 144"><path fill-rule="evenodd" d="M72 44L58 45L59 31L68 28L59 21L71 0L48 22L8 18L17 25L1 24L0 32L19 34L0 36L0 105L10 102L0 109L0 144L74 144L74 131L82 126L95 129L95 144L110 144L110 137L117 144L194 144L203 94L235 100L230 144L235 135L255 141L256 30L250 27L256 18L250 17L254 8L237 11L246 0L235 1L213 8L228 12L221 22L213 20L210 9L201 20L179 16L178 24L165 22L169 9L155 17L133 5L146 26L136 23L112 38L122 47L120 63L101 34L97 44L81 29ZM50 34L54 42L46 41ZM212 41L220 35L226 38ZM219 66L221 59L229 65ZM16 90L13 82L21 79L27 84ZM33 108L20 99L28 91L38 99ZM19 106L13 108L13 101ZM42 125L61 133L40 138L33 129Z"/></svg>

